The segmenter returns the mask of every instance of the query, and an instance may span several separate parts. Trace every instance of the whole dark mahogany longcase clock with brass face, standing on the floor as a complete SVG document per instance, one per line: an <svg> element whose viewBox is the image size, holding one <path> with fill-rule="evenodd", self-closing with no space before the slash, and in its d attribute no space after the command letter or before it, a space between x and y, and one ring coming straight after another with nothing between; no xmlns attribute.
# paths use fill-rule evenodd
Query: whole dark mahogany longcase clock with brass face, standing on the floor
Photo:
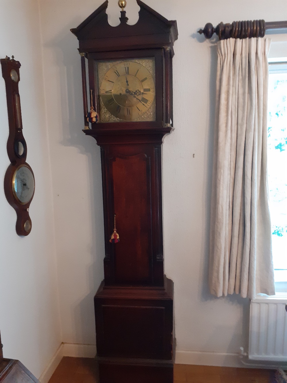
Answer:
<svg viewBox="0 0 287 383"><path fill-rule="evenodd" d="M135 25L127 24L123 0L121 23L110 26L106 1L71 29L82 56L83 131L101 147L105 257L95 295L100 383L173 382L173 282L163 267L161 144L173 130L178 31L176 21L137 3ZM89 111L88 117L97 113L97 118L87 119ZM90 128L88 121L96 120ZM119 242L111 243L115 214Z"/></svg>

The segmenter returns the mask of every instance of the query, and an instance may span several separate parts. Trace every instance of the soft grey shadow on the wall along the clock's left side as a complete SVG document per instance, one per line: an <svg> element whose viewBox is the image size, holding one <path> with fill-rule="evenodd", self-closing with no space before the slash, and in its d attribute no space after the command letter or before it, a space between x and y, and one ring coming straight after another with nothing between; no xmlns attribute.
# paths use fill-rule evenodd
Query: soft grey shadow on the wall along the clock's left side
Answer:
<svg viewBox="0 0 287 383"><path fill-rule="evenodd" d="M71 22L77 26L78 20ZM90 228L92 232L90 252L92 262L87 266L86 283L90 293L79 302L75 303L75 312L72 313L73 333L76 339L82 339L84 344L95 343L91 339L91 329L95 329L95 315L93 298L103 280L104 259L104 229L103 229L103 194L101 180L100 148L95 139L87 137L84 128L81 58L78 54L78 40L65 26L58 37L49 44L53 48L54 62L59 69L60 110L62 115L62 141L60 144L76 147L86 156L88 164L88 190L90 191ZM78 172L75 169L75 173ZM80 254L79 254L80 256ZM95 331L95 330L94 330Z"/></svg>

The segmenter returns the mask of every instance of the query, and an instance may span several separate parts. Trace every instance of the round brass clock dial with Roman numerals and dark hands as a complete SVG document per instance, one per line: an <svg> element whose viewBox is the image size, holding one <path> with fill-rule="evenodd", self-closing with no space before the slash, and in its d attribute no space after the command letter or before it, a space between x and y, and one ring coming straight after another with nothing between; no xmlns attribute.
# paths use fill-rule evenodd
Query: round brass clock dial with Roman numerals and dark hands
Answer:
<svg viewBox="0 0 287 383"><path fill-rule="evenodd" d="M135 121L152 106L155 83L142 64L122 61L106 72L100 93L104 106L113 116Z"/></svg>

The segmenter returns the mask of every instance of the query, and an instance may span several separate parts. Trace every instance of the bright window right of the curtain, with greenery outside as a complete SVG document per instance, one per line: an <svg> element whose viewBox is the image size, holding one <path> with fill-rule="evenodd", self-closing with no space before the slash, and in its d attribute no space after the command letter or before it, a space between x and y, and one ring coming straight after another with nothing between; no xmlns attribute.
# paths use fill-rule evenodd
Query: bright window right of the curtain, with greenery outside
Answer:
<svg viewBox="0 0 287 383"><path fill-rule="evenodd" d="M269 60L268 183L276 292L287 291L287 57Z"/></svg>

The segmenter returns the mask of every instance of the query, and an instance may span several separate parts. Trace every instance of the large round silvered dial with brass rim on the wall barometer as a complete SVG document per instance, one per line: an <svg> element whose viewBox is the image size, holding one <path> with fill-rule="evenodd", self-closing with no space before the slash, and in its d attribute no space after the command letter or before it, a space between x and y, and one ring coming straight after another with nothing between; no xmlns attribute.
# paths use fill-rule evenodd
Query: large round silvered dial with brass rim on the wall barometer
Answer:
<svg viewBox="0 0 287 383"><path fill-rule="evenodd" d="M30 202L35 188L34 175L26 165L20 165L15 170L12 179L13 193L22 205Z"/></svg>

